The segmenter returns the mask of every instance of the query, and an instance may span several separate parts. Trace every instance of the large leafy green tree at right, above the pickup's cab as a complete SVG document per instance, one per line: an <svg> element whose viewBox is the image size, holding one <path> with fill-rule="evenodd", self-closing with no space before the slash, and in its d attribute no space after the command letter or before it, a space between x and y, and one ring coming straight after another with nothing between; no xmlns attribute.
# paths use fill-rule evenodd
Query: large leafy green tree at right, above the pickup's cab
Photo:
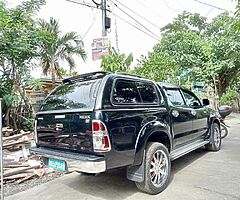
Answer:
<svg viewBox="0 0 240 200"><path fill-rule="evenodd" d="M173 69L187 72L190 81L212 85L221 98L240 75L240 35L232 26L234 20L223 13L207 23L199 14L184 12L161 29L162 39L145 66L164 64L164 57L156 55L167 54L174 61ZM142 62L139 65L143 67ZM161 69L169 71L167 65Z"/></svg>

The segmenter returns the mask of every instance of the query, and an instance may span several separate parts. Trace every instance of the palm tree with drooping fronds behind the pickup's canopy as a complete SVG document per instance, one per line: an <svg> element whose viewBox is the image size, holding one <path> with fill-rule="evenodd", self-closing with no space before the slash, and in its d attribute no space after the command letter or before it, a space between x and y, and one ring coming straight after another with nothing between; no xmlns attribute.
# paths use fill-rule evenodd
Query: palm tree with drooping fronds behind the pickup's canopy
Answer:
<svg viewBox="0 0 240 200"><path fill-rule="evenodd" d="M74 55L80 56L84 61L86 52L83 49L83 41L76 32L61 34L59 23L54 18L50 21L39 21L42 30L42 39L40 42L40 61L45 75L52 75L52 85L55 87L56 75L61 78L60 61L66 61L70 67L70 73L76 64Z"/></svg>

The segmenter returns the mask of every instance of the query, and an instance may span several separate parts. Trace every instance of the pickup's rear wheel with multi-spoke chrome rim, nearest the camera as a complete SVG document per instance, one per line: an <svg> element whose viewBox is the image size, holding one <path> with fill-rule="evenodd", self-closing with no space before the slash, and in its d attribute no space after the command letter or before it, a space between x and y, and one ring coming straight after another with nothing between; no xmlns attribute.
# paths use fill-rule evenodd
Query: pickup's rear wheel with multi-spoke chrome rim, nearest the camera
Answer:
<svg viewBox="0 0 240 200"><path fill-rule="evenodd" d="M143 162L145 165L144 181L141 183L135 182L137 188L148 194L162 192L169 183L171 172L171 162L167 148L161 143L148 143Z"/></svg>

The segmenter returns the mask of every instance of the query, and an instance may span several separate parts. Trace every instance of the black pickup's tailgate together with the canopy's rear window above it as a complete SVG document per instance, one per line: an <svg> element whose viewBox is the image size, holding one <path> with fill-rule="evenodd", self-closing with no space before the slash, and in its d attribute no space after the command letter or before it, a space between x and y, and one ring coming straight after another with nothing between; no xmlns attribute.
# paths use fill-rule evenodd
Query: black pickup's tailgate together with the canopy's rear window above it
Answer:
<svg viewBox="0 0 240 200"><path fill-rule="evenodd" d="M92 151L91 120L100 82L65 83L46 98L36 116L39 146Z"/></svg>

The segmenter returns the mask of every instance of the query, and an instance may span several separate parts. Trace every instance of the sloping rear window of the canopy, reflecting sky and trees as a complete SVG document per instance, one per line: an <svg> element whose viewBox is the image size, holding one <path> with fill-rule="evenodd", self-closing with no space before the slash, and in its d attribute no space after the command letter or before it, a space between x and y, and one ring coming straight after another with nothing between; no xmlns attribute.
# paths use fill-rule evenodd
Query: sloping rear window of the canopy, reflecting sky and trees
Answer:
<svg viewBox="0 0 240 200"><path fill-rule="evenodd" d="M47 97L40 110L92 109L99 83L99 80L94 80L60 85Z"/></svg>

